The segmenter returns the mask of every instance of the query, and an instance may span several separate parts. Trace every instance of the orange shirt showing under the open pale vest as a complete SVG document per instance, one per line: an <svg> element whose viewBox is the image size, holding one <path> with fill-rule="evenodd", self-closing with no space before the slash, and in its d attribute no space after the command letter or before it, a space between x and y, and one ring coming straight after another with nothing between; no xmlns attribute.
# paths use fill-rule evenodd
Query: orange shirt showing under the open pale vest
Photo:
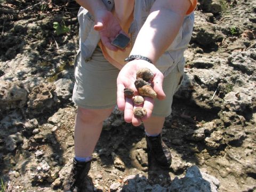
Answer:
<svg viewBox="0 0 256 192"><path fill-rule="evenodd" d="M190 14L196 9L197 0L189 0L191 5L187 11L187 14ZM113 14L119 20L119 23L122 29L126 34L128 33L129 27L133 20L133 9L134 9L134 0L114 0L115 7L113 9ZM131 6L133 5L133 6ZM126 62L124 59L129 57L132 47L128 46L124 51L111 51L107 49L107 47L103 46L101 41L99 42L99 46L102 50L104 57L115 67L118 69L122 69Z"/></svg>

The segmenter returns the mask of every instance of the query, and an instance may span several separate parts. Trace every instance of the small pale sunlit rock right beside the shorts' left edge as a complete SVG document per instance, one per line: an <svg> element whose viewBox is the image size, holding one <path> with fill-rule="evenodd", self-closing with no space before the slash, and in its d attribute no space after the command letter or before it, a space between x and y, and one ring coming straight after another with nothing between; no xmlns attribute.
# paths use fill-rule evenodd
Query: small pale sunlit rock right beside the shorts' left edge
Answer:
<svg viewBox="0 0 256 192"><path fill-rule="evenodd" d="M57 97L62 100L68 100L72 96L72 91L74 87L73 81L66 78L61 78L58 81L54 82L56 86L55 92Z"/></svg>

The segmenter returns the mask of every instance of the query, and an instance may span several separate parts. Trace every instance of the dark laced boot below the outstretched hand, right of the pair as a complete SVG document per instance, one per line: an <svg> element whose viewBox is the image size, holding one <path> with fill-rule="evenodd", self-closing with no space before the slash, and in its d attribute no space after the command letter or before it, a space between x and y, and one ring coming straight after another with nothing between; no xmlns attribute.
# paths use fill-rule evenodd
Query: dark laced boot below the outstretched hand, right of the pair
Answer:
<svg viewBox="0 0 256 192"><path fill-rule="evenodd" d="M170 149L162 140L162 135L148 137L146 135L148 156L153 156L156 162L163 167L170 167L172 163L172 154Z"/></svg>

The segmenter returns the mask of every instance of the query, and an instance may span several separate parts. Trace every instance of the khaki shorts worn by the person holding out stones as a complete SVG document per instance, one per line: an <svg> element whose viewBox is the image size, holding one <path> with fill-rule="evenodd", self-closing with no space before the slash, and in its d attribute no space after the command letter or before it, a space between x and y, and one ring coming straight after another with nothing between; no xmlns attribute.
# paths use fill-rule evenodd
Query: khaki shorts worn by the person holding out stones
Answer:
<svg viewBox="0 0 256 192"><path fill-rule="evenodd" d="M119 69L111 65L97 47L91 59L84 61L81 54L75 59L75 86L73 102L85 109L104 109L116 105L116 79ZM155 99L153 116L166 117L171 114L172 99L183 77L183 70L175 67L164 78L163 90L166 99Z"/></svg>

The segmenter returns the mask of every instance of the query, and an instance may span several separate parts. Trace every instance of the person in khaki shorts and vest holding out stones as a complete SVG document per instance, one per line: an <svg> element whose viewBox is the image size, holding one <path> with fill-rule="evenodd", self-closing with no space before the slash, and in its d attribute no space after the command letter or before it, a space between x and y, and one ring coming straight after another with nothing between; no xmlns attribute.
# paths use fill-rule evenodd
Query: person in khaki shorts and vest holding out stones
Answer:
<svg viewBox="0 0 256 192"><path fill-rule="evenodd" d="M183 77L183 52L194 25L196 0L76 0L79 50L75 59L73 101L78 106L75 122L75 157L64 191L82 190L91 166L91 155L102 123L117 106L127 123L145 127L147 148L156 162L171 165L171 152L162 141L165 117ZM124 50L111 44L118 34L131 38ZM128 58L128 59L126 59ZM124 62L124 60L128 62ZM138 69L153 71L157 99L145 97L147 115L133 115L132 99L124 88L134 86Z"/></svg>

